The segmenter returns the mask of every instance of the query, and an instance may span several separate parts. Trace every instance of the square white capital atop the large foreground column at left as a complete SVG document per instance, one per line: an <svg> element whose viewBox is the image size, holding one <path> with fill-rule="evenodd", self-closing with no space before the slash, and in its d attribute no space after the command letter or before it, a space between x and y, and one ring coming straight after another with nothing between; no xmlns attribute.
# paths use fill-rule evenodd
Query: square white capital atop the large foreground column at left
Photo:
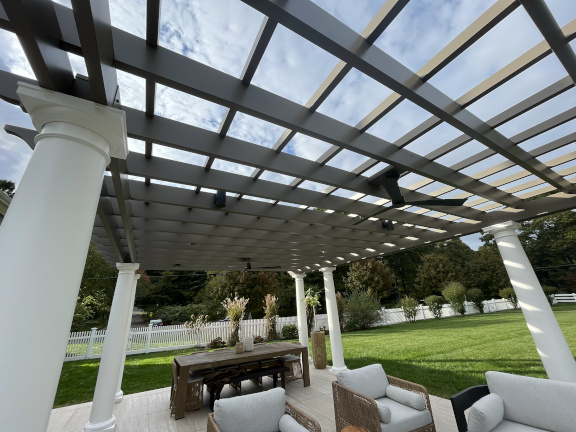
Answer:
<svg viewBox="0 0 576 432"><path fill-rule="evenodd" d="M100 151L107 157L128 156L124 111L24 82L18 82L16 93L39 132L48 123L73 124L102 137L109 148Z"/></svg>

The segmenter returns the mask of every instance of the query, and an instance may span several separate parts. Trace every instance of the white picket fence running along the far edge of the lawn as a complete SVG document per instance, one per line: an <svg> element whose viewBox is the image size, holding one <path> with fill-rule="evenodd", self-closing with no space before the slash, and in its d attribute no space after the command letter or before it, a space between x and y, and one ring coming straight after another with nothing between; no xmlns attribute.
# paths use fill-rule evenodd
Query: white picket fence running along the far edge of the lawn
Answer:
<svg viewBox="0 0 576 432"><path fill-rule="evenodd" d="M484 311L497 312L505 309L512 309L510 303L503 299L487 300L484 302ZM466 314L477 313L476 308L472 303L466 304ZM448 304L444 305L443 317L457 315L452 307ZM375 326L383 326L390 324L398 324L405 322L404 313L402 309L382 309L381 320ZM428 310L428 306L420 305L416 320L434 318L432 313ZM281 334L282 328L288 324L298 325L296 317L278 317L277 331ZM328 317L326 314L316 315L315 330L322 327L328 328ZM217 337L222 340L228 340L230 336L230 324L227 321L213 322L206 326L206 328L198 335L195 335L183 324L153 327L135 327L130 330L128 338L128 347L126 350L127 355L142 354L157 351L167 351L180 348L191 348L196 345L204 346L208 342ZM243 320L240 325L240 336L262 336L266 337L266 320ZM64 361L71 360L84 360L99 358L102 356L102 346L104 345L104 338L106 337L106 330L96 330L84 332L72 332L68 340L68 347L66 349L66 356Z"/></svg>

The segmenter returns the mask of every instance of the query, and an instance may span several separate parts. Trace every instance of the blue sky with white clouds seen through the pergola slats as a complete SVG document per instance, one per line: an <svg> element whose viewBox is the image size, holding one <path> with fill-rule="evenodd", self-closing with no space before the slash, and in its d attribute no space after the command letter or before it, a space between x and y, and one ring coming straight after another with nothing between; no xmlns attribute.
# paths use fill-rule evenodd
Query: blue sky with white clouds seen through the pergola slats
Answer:
<svg viewBox="0 0 576 432"><path fill-rule="evenodd" d="M59 1L69 6L69 1ZM384 3L374 0L316 0L320 7L334 15L344 24L360 33ZM375 45L406 67L416 72L454 37L484 13L494 0L412 0L378 38ZM576 2L566 0L547 1L560 26L576 18ZM110 0L112 24L140 37L145 36L145 0ZM263 16L237 0L164 0L162 2L159 44L169 50L190 57L224 73L239 77L250 53ZM459 56L430 83L453 99L465 94L475 85L542 41L527 13L522 7L493 28L469 50ZM17 38L0 30L0 69L34 78ZM575 44L572 43L574 49ZM83 59L69 55L73 71L86 75ZM252 85L272 91L298 104L305 104L338 59L312 45L286 28L278 26L254 75ZM548 56L524 73L501 86L488 97L472 104L468 109L483 120L487 120L526 97L526 88L535 93L556 80L566 76L565 70L555 56ZM122 104L144 109L144 80L118 73ZM378 104L391 94L391 90L368 76L352 71L318 109L348 125L356 125ZM226 108L203 101L176 90L158 86L156 115L202 127L218 130ZM519 130L561 113L574 106L576 90L567 91L553 102L543 104L534 112L519 116L498 128L507 137ZM430 115L409 101L403 101L382 120L372 126L368 133L394 142ZM26 114L19 108L0 101L0 123L32 128ZM238 113L228 135L265 147L271 147L283 132L274 124ZM530 150L545 142L576 131L576 121L555 128L522 144ZM460 135L452 126L441 124L407 146L407 149L427 154L435 148ZM284 152L315 160L331 146L306 135L297 134ZM130 151L143 152L144 144L129 140ZM471 142L456 152L443 156L438 162L450 166L461 159L483 150L478 142ZM566 151L576 151L574 144ZM206 157L155 145L154 154L174 158L194 165L202 165ZM0 131L0 178L19 183L31 150L18 138ZM551 160L556 155L544 155L542 160ZM494 156L467 168L465 174L474 174L499 162ZM503 160L503 158L501 158ZM366 160L349 151L341 152L328 162L337 168L352 170ZM573 165L574 163L572 163ZM370 175L382 168L382 164L366 173ZM216 160L213 169L227 170L240 175L250 175L252 167ZM510 175L506 170L501 174ZM501 178L500 177L500 178ZM289 176L265 172L266 180L288 184ZM422 177L410 174L402 178L401 186L409 187ZM498 179L498 175L490 180ZM529 179L528 179L529 180ZM433 182L423 189L431 193L444 185ZM326 185L305 182L300 187L323 190ZM461 191L452 191L441 196L449 198ZM349 197L351 191L337 191L336 195ZM372 197L373 198L373 197ZM474 197L473 197L474 198ZM370 201L371 197L363 200ZM373 202L373 201L372 201ZM479 236L463 238L471 247L480 245Z"/></svg>

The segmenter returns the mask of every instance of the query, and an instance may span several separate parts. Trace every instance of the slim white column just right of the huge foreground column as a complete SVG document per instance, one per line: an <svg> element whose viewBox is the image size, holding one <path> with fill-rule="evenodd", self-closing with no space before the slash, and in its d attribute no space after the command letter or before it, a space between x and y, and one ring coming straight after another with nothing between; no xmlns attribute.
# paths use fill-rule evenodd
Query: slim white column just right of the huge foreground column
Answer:
<svg viewBox="0 0 576 432"><path fill-rule="evenodd" d="M110 318L106 328L106 339L102 347L102 359L98 368L98 378L94 390L94 400L90 421L84 426L85 432L114 431L116 418L112 414L118 376L120 374L122 355L125 352L126 325L128 321L128 308L132 300L132 288L134 286L134 272L138 270L138 264L116 264L118 280L114 290Z"/></svg>

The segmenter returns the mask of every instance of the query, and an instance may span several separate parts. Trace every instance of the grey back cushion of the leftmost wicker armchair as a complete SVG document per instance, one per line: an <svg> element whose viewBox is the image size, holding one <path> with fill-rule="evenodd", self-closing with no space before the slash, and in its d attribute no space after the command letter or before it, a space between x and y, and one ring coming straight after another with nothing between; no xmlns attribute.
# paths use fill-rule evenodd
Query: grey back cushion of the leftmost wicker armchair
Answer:
<svg viewBox="0 0 576 432"><path fill-rule="evenodd" d="M214 421L221 432L278 432L285 412L283 388L219 399L214 403Z"/></svg>

